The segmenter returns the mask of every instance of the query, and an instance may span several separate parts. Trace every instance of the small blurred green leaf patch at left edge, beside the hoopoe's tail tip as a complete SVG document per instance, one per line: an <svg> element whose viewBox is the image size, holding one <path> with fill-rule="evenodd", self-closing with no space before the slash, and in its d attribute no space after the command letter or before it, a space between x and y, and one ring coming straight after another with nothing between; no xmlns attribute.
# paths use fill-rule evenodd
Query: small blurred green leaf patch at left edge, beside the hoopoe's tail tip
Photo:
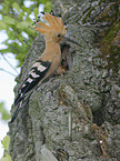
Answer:
<svg viewBox="0 0 120 161"><path fill-rule="evenodd" d="M0 113L2 114L2 120L4 120L4 121L7 121L11 118L10 114L8 113L8 111L6 110L3 102L0 102Z"/></svg>

